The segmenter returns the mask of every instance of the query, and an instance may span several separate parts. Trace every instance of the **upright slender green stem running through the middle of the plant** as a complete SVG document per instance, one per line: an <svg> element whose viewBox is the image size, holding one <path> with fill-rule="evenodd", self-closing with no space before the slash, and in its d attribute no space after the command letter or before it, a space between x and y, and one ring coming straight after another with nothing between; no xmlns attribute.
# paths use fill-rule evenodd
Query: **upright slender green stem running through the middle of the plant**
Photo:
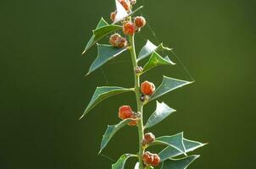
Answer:
<svg viewBox="0 0 256 169"><path fill-rule="evenodd" d="M137 112L141 113L141 117L137 122L138 127L138 134L139 134L139 169L143 169L143 161L142 161L142 155L144 153L143 147L142 147L142 139L144 137L144 127L143 127L143 102L141 101L141 95L140 95L140 75L136 74L135 68L137 67L136 62L136 51L135 51L135 42L134 42L134 35L130 35L130 52L131 52L131 60L133 65L133 72L134 72L134 79L135 79L135 94L136 94L136 105L137 105Z"/></svg>

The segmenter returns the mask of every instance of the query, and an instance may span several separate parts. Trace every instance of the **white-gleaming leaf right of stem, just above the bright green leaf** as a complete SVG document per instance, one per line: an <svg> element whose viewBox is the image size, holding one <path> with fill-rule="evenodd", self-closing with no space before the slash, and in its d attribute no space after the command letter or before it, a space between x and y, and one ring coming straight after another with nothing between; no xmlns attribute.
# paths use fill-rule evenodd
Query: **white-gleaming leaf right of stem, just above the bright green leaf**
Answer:
<svg viewBox="0 0 256 169"><path fill-rule="evenodd" d="M139 52L137 57L137 62L141 61L143 58L150 56L153 52L162 52L162 51L171 51L172 49L164 47L163 43L159 46L155 46L151 41L147 40L145 46L142 47L142 50Z"/></svg>

